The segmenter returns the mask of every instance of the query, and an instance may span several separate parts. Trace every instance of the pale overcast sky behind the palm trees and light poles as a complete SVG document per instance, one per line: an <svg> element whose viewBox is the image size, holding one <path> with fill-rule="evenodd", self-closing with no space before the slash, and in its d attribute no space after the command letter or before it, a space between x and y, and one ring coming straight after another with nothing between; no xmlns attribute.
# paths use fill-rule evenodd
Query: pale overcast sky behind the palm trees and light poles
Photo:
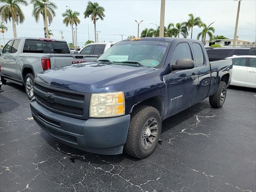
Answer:
<svg viewBox="0 0 256 192"><path fill-rule="evenodd" d="M30 2L30 0L27 0ZM71 26L63 24L62 13L66 6L72 10L80 12L77 36L78 46L84 46L86 40L94 40L94 25L90 18L84 19L87 0L51 0L58 6L56 17L49 29L54 36L52 38L61 39L60 30L64 33L64 40L72 42ZM94 2L92 0L92 2ZM140 25L140 32L144 28L156 28L153 24L160 22L160 0L97 0L100 6L105 8L106 17L104 20L96 22L96 28L99 33L99 42L113 41L118 42L122 37L118 34L124 34L123 38L134 35L137 36L138 25L134 20L143 22ZM238 1L234 0L166 0L165 4L165 26L169 22L177 23L188 20L188 14L193 13L199 16L206 24L214 22L214 35L224 35L228 38L234 38L234 28L236 22ZM25 15L23 24L16 26L18 37L44 37L44 22L42 16L38 23L31 15L32 5L21 6ZM13 38L12 23L6 24L8 31L4 33L6 41ZM88 37L89 26L89 37ZM193 38L202 29L193 28ZM114 35L115 34L115 35ZM239 39L255 41L256 36L256 0L242 0L240 6L240 16L238 22L237 36ZM1 34L1 44L3 44ZM190 32L189 32L190 37ZM208 39L208 38L206 38Z"/></svg>

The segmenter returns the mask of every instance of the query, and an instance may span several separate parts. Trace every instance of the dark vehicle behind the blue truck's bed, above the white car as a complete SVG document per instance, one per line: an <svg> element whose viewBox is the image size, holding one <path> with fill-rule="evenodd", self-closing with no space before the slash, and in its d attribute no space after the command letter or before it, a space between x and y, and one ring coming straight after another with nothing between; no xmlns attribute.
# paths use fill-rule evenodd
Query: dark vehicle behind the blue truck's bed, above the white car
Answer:
<svg viewBox="0 0 256 192"><path fill-rule="evenodd" d="M232 56L256 56L256 48L206 48L210 61L220 60Z"/></svg>

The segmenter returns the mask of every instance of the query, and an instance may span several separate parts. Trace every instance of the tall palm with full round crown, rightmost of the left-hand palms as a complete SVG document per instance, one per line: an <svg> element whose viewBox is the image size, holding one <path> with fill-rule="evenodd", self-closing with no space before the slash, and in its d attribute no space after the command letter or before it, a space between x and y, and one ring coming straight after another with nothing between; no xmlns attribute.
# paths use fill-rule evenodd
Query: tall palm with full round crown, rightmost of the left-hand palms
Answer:
<svg viewBox="0 0 256 192"><path fill-rule="evenodd" d="M97 2L91 2L88 1L86 10L84 12L84 18L89 18L91 16L91 20L93 21L94 24L94 36L95 36L95 42L96 42L96 21L100 18L101 20L104 19L105 14L104 14L104 7L99 6Z"/></svg>

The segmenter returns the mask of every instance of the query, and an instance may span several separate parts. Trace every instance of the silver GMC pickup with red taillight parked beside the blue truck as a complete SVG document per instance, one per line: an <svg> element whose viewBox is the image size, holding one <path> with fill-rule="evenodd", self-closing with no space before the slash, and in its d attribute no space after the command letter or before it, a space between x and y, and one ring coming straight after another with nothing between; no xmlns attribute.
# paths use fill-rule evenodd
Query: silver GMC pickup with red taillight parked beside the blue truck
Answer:
<svg viewBox="0 0 256 192"><path fill-rule="evenodd" d="M13 38L7 42L0 56L2 83L6 80L25 85L28 98L34 96L33 81L38 72L86 62L83 55L70 54L63 40L45 38Z"/></svg>

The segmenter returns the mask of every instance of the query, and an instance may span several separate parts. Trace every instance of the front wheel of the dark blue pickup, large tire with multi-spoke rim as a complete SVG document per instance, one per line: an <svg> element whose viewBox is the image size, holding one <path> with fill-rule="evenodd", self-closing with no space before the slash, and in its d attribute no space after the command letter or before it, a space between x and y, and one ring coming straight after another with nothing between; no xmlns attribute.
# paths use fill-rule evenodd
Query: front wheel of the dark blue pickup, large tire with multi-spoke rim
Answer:
<svg viewBox="0 0 256 192"><path fill-rule="evenodd" d="M150 156L158 144L161 128L161 116L156 108L138 106L131 114L124 151L138 159Z"/></svg>

